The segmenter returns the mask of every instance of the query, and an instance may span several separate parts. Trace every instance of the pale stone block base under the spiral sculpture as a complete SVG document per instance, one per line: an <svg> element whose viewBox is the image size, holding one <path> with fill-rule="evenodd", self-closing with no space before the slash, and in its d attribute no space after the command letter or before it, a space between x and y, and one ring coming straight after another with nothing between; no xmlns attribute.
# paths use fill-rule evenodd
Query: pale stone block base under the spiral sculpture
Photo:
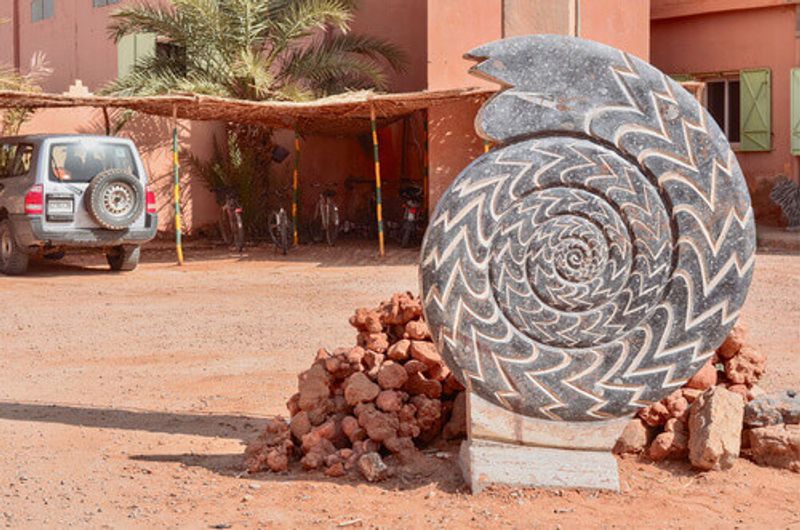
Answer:
<svg viewBox="0 0 800 530"><path fill-rule="evenodd" d="M515 414L480 396L467 399L468 439L459 455L473 493L489 484L619 491L611 454L629 421L544 421Z"/></svg>

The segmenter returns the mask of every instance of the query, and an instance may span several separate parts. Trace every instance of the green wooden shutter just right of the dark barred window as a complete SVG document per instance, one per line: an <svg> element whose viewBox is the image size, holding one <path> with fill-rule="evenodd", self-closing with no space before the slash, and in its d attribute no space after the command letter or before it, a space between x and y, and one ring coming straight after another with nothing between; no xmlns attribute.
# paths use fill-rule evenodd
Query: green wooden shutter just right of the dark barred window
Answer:
<svg viewBox="0 0 800 530"><path fill-rule="evenodd" d="M742 70L741 90L741 150L770 151L772 149L772 83L769 68Z"/></svg>

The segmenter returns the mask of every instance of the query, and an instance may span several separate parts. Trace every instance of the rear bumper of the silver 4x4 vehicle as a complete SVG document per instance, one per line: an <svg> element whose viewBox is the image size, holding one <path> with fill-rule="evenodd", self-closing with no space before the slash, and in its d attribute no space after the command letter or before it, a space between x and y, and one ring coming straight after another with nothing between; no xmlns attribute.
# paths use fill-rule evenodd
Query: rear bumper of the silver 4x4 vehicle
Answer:
<svg viewBox="0 0 800 530"><path fill-rule="evenodd" d="M70 228L59 231L45 229L42 220L26 215L12 215L14 235L22 247L113 247L142 245L156 236L158 215L145 214L144 228L105 230L102 228Z"/></svg>

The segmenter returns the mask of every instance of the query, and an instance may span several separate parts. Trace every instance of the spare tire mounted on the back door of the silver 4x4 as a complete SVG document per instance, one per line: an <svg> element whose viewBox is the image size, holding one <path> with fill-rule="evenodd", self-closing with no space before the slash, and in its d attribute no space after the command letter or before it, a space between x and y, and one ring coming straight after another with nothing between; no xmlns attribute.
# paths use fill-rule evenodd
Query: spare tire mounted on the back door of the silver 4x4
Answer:
<svg viewBox="0 0 800 530"><path fill-rule="evenodd" d="M144 212L144 187L124 169L99 173L86 188L86 209L108 230L125 230Z"/></svg>

